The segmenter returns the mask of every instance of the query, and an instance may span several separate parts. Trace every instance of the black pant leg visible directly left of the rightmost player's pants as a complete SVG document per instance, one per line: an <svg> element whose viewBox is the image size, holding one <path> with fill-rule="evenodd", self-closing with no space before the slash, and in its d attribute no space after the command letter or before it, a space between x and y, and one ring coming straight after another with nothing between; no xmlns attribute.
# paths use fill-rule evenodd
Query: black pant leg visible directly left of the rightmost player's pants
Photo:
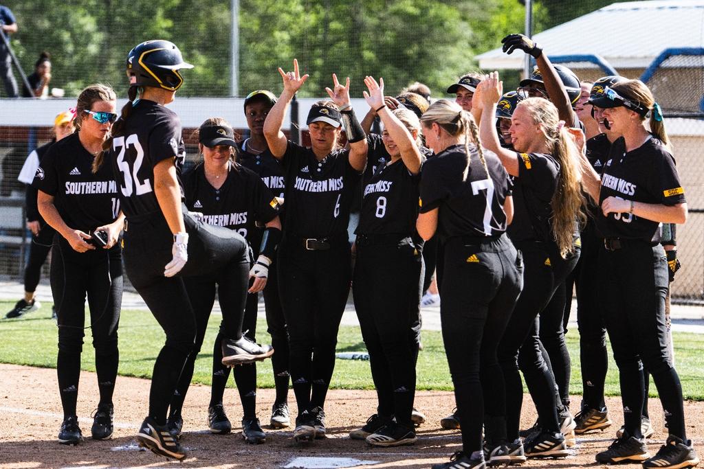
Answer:
<svg viewBox="0 0 704 469"><path fill-rule="evenodd" d="M608 371L606 326L599 297L599 278L603 276L598 266L599 250L603 248L590 222L582 230L582 255L579 257L577 276L577 326L579 327L579 361L582 366L582 406L586 409L603 409L604 382Z"/></svg>

